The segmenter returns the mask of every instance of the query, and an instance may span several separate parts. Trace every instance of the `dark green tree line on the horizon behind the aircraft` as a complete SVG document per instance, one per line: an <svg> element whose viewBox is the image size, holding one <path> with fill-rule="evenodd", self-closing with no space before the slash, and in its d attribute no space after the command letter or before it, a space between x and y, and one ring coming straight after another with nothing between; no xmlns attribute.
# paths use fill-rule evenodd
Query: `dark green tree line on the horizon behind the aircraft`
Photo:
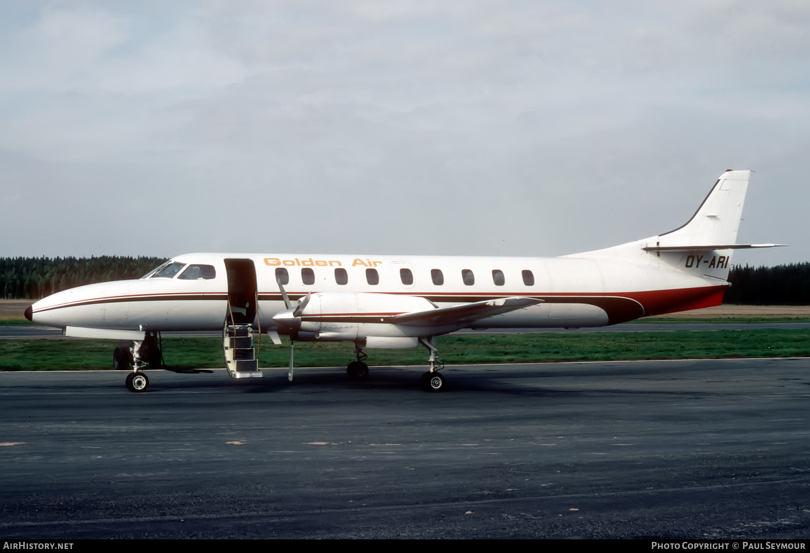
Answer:
<svg viewBox="0 0 810 553"><path fill-rule="evenodd" d="M37 299L95 282L139 278L162 257L0 257L0 298ZM723 303L810 305L810 263L775 267L736 265Z"/></svg>

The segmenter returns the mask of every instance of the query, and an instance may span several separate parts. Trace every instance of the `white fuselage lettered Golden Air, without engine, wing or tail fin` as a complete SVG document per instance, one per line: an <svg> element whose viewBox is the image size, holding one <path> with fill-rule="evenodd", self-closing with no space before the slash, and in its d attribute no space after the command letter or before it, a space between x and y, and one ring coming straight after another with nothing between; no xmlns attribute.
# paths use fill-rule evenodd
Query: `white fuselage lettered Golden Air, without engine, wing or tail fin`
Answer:
<svg viewBox="0 0 810 553"><path fill-rule="evenodd" d="M641 252L644 253L644 252ZM252 260L258 291L254 324L275 326L285 309L276 278L291 300L307 293L386 294L378 311L408 310L395 298L424 298L439 307L493 298L537 298L543 303L463 325L471 327L600 327L674 310L718 305L727 286L706 270L684 268L687 255L664 256L667 263L594 256L441 257L309 254L187 254L172 277L146 276L80 286L55 293L32 306L32 320L53 327L130 331L221 329L228 316L224 260ZM186 267L210 266L205 278L181 278ZM278 270L278 271L277 271ZM368 314L368 313L366 313Z"/></svg>

